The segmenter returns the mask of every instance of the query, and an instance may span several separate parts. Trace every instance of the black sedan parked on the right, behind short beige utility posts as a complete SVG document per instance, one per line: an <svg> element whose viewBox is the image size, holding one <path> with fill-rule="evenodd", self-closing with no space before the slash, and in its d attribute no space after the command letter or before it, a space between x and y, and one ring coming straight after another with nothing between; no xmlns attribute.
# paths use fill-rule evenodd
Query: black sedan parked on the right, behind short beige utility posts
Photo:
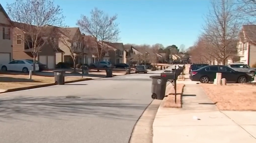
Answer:
<svg viewBox="0 0 256 143"><path fill-rule="evenodd" d="M227 82L245 83L252 80L252 74L235 71L227 66L213 65L205 66L197 70L191 70L189 76L191 81L200 81L201 83L213 82L216 78L216 73L221 73L222 78Z"/></svg>

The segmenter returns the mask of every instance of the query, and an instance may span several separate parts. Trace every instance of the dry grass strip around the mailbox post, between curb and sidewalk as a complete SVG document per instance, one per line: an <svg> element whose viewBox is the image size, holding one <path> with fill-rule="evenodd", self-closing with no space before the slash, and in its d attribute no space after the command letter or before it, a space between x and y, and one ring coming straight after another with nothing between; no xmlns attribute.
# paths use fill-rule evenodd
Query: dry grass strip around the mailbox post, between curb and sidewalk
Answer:
<svg viewBox="0 0 256 143"><path fill-rule="evenodd" d="M177 84L177 94L176 94L176 103L175 103L175 90L174 88L171 88L168 92L167 92L167 97L165 97L165 101L164 101L164 105L163 107L166 108L181 108L182 106L182 92L183 92L183 87L184 84L180 83Z"/></svg>

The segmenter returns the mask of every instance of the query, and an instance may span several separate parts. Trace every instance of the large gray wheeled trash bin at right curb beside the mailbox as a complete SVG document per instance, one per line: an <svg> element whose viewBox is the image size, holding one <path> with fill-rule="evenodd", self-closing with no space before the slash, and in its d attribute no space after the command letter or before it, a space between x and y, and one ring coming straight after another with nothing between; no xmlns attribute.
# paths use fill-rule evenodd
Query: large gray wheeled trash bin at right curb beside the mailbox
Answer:
<svg viewBox="0 0 256 143"><path fill-rule="evenodd" d="M150 76L152 79L151 97L153 99L163 100L165 96L166 80L161 79L159 75Z"/></svg>

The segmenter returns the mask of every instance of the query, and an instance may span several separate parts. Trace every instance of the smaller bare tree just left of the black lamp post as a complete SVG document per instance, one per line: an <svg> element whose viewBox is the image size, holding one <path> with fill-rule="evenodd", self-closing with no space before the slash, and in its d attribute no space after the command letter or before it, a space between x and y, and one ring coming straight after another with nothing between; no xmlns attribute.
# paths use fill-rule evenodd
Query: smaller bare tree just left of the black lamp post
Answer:
<svg viewBox="0 0 256 143"><path fill-rule="evenodd" d="M58 28L60 30L59 34L59 42L61 42L63 45L65 45L70 52L70 56L72 57L73 60L73 67L74 67L74 72L76 71L76 59L79 54L82 54L83 52L83 37L81 34L77 34L74 37L69 37L69 33L71 30L69 28ZM82 60L84 58L82 57Z"/></svg>

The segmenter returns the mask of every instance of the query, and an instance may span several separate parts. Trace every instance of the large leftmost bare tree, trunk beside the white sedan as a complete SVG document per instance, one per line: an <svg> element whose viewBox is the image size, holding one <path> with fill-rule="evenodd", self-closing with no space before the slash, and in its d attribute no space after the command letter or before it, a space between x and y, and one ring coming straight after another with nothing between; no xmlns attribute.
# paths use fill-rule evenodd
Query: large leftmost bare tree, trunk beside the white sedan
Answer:
<svg viewBox="0 0 256 143"><path fill-rule="evenodd" d="M34 60L33 71L35 71L38 52L56 36L53 26L64 26L62 9L58 5L55 6L51 0L16 0L6 7L10 18L17 22L15 26L19 30L13 30L14 35L22 32L24 36L17 38L24 41L31 49Z"/></svg>

